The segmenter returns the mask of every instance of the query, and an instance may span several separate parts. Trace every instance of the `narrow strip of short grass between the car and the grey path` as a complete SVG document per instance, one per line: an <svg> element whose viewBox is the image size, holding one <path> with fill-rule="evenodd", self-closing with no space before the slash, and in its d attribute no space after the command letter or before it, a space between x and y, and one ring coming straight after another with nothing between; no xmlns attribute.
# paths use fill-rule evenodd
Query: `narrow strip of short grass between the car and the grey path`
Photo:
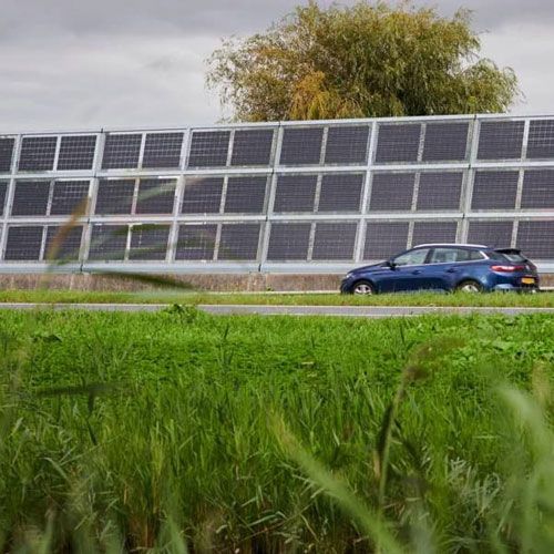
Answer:
<svg viewBox="0 0 554 554"><path fill-rule="evenodd" d="M249 294L249 293L96 293L80 290L2 290L0 302L53 304L248 304L284 306L522 306L553 308L554 293L520 295L494 293L484 295L414 293L370 297L339 294Z"/></svg>

